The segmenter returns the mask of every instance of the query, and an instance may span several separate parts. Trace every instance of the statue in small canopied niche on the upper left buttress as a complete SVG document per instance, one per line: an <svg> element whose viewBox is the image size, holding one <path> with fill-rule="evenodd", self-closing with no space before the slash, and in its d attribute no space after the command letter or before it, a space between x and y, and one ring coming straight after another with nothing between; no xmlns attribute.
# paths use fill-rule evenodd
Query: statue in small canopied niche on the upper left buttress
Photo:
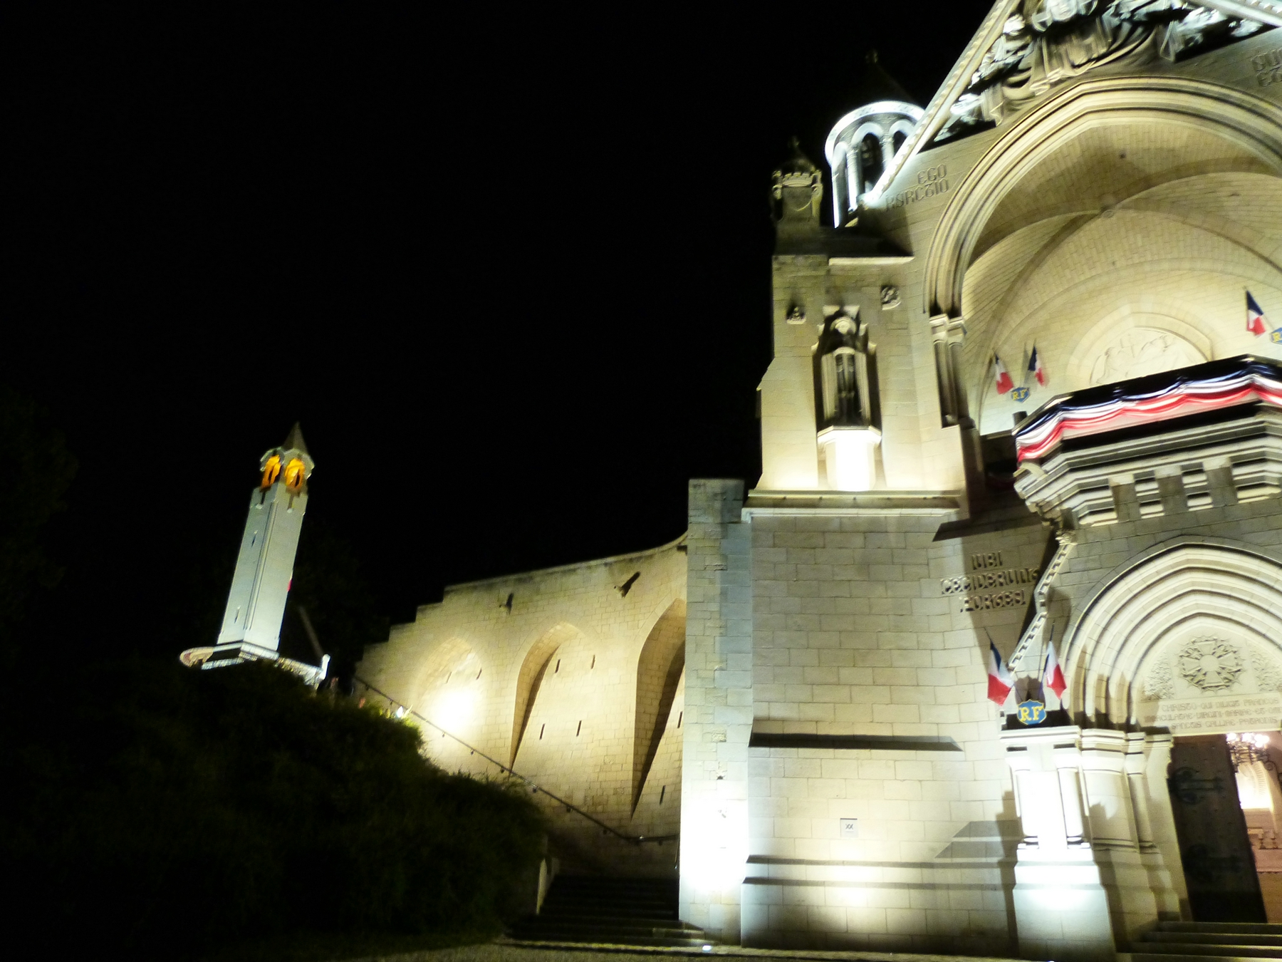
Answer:
<svg viewBox="0 0 1282 962"><path fill-rule="evenodd" d="M876 349L868 323L842 309L828 317L814 349L815 421L828 427L877 427Z"/></svg>

